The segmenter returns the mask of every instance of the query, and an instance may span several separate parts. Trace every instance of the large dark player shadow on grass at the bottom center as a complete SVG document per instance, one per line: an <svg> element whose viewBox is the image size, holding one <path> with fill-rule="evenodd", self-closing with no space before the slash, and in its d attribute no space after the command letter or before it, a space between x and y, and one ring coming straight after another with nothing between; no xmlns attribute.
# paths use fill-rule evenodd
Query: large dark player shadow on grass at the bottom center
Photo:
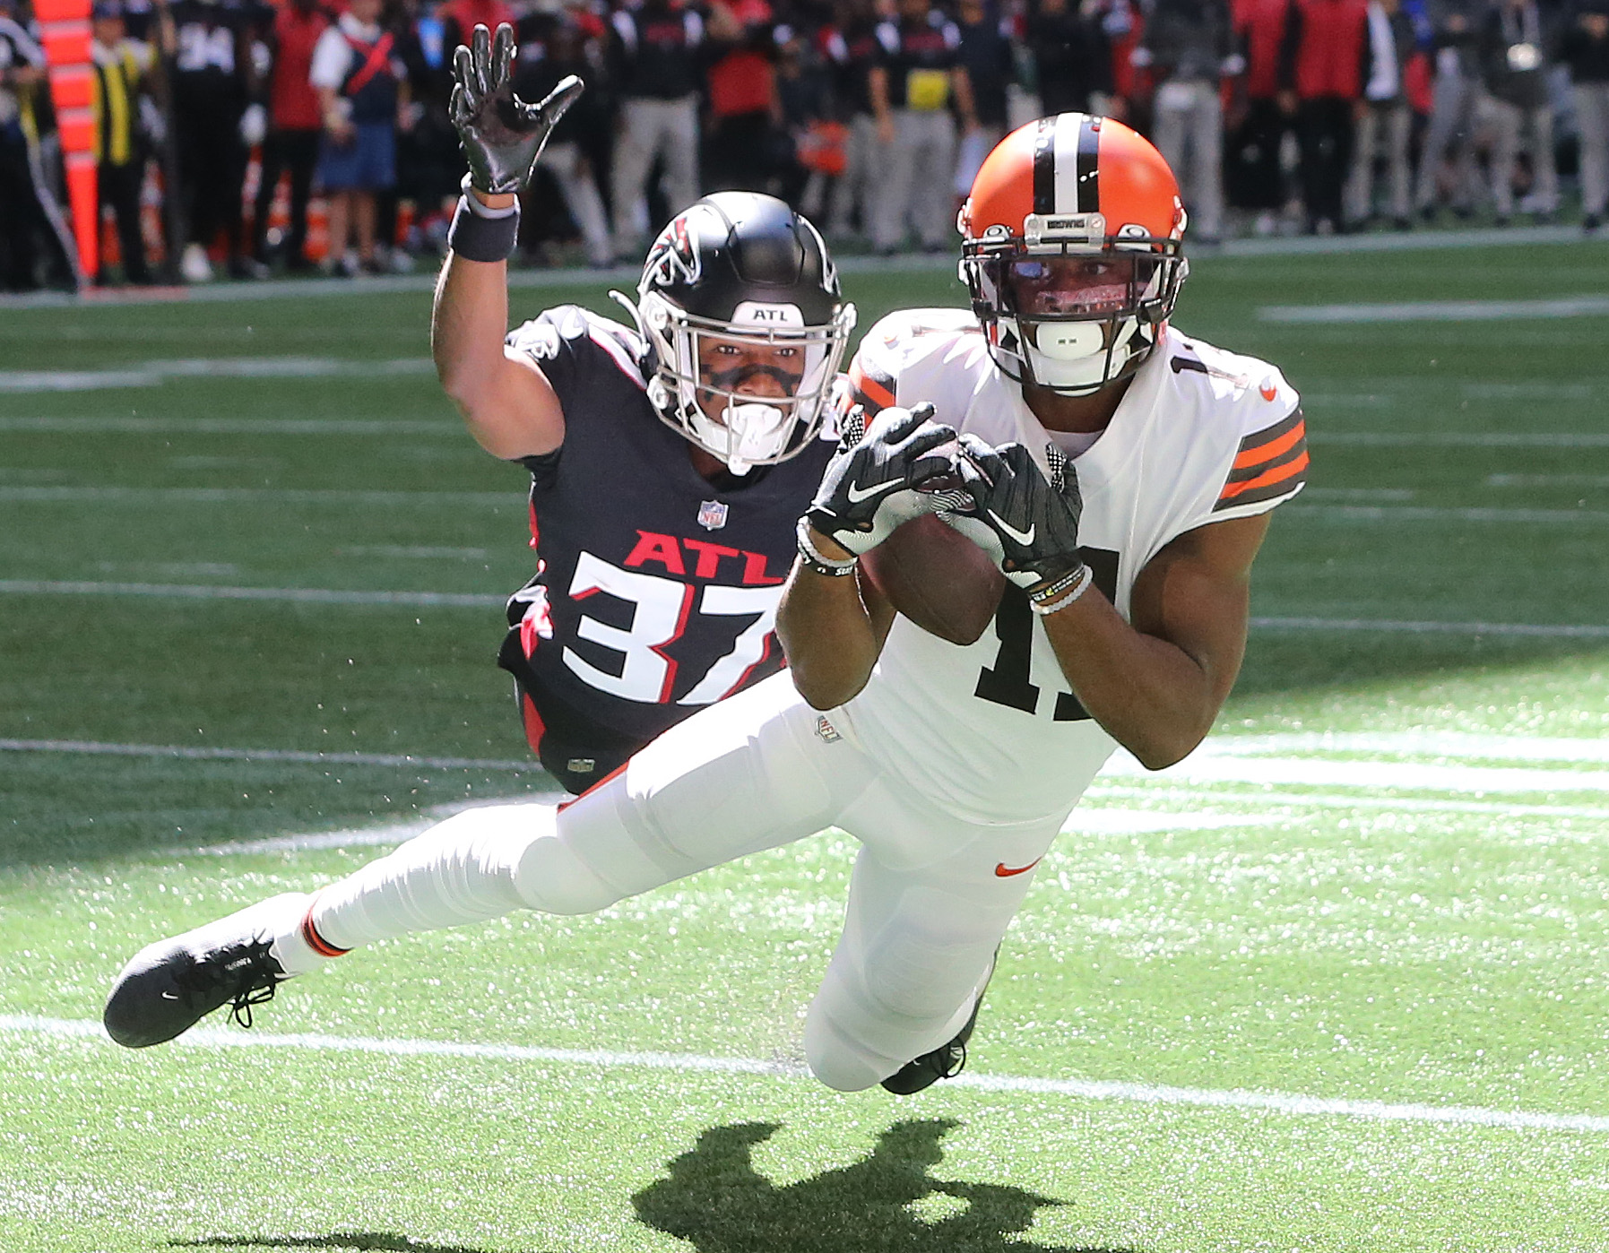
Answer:
<svg viewBox="0 0 1609 1253"><path fill-rule="evenodd" d="M676 1235L698 1253L1028 1253L1046 1248L1014 1239L1035 1213L1064 1205L1018 1187L933 1179L940 1140L953 1119L895 1123L870 1155L853 1166L822 1171L777 1187L755 1171L751 1152L776 1123L710 1128L668 1174L631 1198L648 1227ZM911 1206L949 1197L932 1221ZM1125 1253L1049 1248L1047 1253Z"/></svg>

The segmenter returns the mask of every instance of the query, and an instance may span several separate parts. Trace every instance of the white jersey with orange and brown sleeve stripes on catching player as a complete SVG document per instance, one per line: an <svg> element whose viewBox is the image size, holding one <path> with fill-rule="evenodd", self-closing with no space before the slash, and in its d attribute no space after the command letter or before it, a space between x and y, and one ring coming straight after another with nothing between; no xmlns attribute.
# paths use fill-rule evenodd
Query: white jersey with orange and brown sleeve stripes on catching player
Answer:
<svg viewBox="0 0 1609 1253"><path fill-rule="evenodd" d="M1052 436L996 368L970 314L885 318L861 343L850 381L869 412L932 401L938 421L988 444L1023 444L1047 470ZM1134 579L1163 545L1289 500L1307 463L1297 394L1276 368L1167 328L1112 423L1072 462L1096 585L1126 619ZM840 722L890 770L975 822L1065 814L1117 746L1068 690L1012 584L993 629L969 647L896 618L866 688L832 713Z"/></svg>

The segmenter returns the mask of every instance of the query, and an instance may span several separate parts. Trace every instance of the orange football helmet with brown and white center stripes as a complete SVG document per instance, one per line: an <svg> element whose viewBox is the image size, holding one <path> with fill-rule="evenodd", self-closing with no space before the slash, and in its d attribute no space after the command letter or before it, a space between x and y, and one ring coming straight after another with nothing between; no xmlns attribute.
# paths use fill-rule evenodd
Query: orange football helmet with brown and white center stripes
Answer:
<svg viewBox="0 0 1609 1253"><path fill-rule="evenodd" d="M1067 396L1146 359L1189 270L1173 170L1110 117L1062 113L1014 130L983 161L957 227L994 362Z"/></svg>

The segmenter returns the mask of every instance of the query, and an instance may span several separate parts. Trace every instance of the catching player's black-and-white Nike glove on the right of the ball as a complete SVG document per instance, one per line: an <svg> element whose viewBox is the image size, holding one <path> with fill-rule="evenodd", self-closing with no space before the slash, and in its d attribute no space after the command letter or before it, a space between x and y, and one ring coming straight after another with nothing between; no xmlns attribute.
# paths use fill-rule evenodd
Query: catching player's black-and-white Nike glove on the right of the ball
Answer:
<svg viewBox="0 0 1609 1253"><path fill-rule="evenodd" d="M1084 502L1078 474L1054 444L1046 444L1046 460L1049 481L1022 444L991 449L975 434L961 436L956 474L970 508L940 513L941 521L983 548L1023 590L1083 565L1078 518Z"/></svg>

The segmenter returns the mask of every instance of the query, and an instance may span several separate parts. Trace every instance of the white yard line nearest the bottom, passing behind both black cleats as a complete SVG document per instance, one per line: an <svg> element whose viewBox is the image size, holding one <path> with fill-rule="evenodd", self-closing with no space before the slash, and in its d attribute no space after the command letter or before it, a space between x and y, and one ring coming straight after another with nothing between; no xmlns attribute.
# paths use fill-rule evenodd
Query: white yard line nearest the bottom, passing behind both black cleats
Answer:
<svg viewBox="0 0 1609 1253"><path fill-rule="evenodd" d="M0 1039L106 1042L100 1023L82 1018L45 1018L31 1013L0 1015ZM759 1074L804 1079L809 1071L796 1063L764 1062L751 1057L706 1057L700 1054L624 1052L611 1049L541 1049L523 1044L467 1044L433 1039L373 1039L365 1036L272 1034L196 1026L180 1036L177 1049L299 1050L322 1054L372 1054L381 1057L463 1058L471 1062L531 1062L552 1066L595 1066L602 1070L658 1070L682 1074ZM1390 1123L1440 1123L1483 1126L1503 1131L1609 1132L1609 1118L1586 1113L1540 1113L1492 1110L1479 1105L1422 1105L1384 1100L1335 1100L1298 1092L1258 1092L1244 1087L1173 1087L1168 1084L1110 1079L1039 1079L1009 1074L967 1073L951 1081L956 1087L981 1092L1031 1092L1075 1100L1120 1100L1141 1105L1186 1105L1221 1110L1253 1110L1297 1118L1363 1118Z"/></svg>

